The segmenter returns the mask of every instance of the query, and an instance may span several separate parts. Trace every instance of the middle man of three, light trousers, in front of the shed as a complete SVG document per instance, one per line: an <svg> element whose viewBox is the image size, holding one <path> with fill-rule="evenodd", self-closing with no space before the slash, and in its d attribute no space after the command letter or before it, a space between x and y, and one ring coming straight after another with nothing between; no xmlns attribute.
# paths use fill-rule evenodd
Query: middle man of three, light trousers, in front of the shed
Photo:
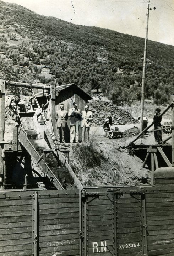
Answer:
<svg viewBox="0 0 174 256"><path fill-rule="evenodd" d="M80 109L77 108L77 102L74 102L73 108L69 109L68 116L70 117L70 143L78 143L78 132L81 124Z"/></svg>

